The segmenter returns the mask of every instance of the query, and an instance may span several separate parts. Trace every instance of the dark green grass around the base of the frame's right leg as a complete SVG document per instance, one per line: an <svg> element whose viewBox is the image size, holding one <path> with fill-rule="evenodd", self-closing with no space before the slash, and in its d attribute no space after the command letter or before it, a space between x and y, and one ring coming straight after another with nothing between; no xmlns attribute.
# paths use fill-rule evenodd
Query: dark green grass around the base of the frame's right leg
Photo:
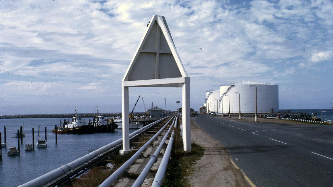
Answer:
<svg viewBox="0 0 333 187"><path fill-rule="evenodd" d="M191 152L183 151L180 128L174 129L174 141L171 155L162 181L162 187L189 187L186 176L193 172L193 164L203 156L204 148L192 143Z"/></svg>

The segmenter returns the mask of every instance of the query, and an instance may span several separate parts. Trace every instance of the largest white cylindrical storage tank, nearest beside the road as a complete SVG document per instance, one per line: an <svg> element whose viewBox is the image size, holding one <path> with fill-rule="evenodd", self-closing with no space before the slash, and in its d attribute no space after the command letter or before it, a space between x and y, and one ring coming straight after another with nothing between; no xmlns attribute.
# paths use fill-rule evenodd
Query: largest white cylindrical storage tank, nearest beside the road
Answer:
<svg viewBox="0 0 333 187"><path fill-rule="evenodd" d="M220 85L220 110L228 113L230 99L230 113L255 112L255 88L257 88L257 112L270 113L279 110L279 85L276 83L235 83ZM235 94L236 93L236 94ZM222 107L223 104L223 107Z"/></svg>

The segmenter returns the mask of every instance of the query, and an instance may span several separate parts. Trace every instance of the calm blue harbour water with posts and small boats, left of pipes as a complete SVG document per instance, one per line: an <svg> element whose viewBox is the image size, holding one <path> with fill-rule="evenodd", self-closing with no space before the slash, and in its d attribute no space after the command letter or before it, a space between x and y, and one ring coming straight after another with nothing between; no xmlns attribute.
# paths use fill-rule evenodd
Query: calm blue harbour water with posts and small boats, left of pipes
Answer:
<svg viewBox="0 0 333 187"><path fill-rule="evenodd" d="M92 118L85 118L87 121ZM19 126L23 126L23 145L20 145L20 155L7 156L7 149L2 148L2 161L0 161L0 186L12 187L28 182L51 170L67 164L91 150L96 150L119 138L122 138L122 129L115 133L95 134L58 134L58 144L55 143L55 134L51 132L54 125L60 124L60 118L30 118L30 119L0 119L0 132L4 142L4 125L7 131L7 147L17 147L17 138L14 136ZM38 137L40 125L40 137ZM37 148L35 151L25 151L25 143L32 143L32 128L35 128L35 143L37 138L44 138L47 127L47 148ZM131 132L135 130L131 129Z"/></svg>

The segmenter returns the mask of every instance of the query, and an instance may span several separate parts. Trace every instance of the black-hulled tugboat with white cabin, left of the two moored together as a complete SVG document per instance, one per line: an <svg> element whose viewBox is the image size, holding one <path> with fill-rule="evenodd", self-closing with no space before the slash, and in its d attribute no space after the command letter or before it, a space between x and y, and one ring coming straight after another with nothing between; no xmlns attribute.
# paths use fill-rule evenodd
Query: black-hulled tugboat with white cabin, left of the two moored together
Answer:
<svg viewBox="0 0 333 187"><path fill-rule="evenodd" d="M57 133L70 133L70 134L87 134L95 133L95 128L91 124L85 124L81 116L77 116L76 106L74 105L75 116L72 123L64 123L63 127L57 127ZM52 129L52 133L56 133L56 129Z"/></svg>

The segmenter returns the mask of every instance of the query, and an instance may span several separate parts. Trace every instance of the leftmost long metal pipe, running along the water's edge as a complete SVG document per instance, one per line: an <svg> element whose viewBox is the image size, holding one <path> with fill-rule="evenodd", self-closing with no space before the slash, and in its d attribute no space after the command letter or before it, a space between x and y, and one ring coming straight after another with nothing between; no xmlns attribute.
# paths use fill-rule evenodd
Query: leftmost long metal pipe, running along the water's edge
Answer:
<svg viewBox="0 0 333 187"><path fill-rule="evenodd" d="M141 129L139 129L135 132L132 132L130 134L130 137L140 133L141 131L151 127L152 125L154 125L156 123L161 122L164 119L166 119L166 117L162 118L160 120L154 121L153 123L151 123L147 126L144 126L144 127L142 127ZM41 187L41 186L47 184L48 182L50 182L50 181L62 176L63 174L67 173L69 170L74 169L74 168L78 167L79 165L81 165L83 163L86 163L87 161L95 158L96 156L100 155L101 153L115 147L116 145L122 143L122 141L123 141L123 138L120 138L120 139L118 139L118 140L116 140L112 143L109 143L108 145L105 145L105 146L103 146L103 147L101 147L101 148L99 148L99 149L97 149L97 150L95 150L95 151L93 151L89 154L86 154L85 156L82 156L82 157L80 157L80 158L78 158L78 159L76 159L76 160L74 160L74 161L72 161L68 164L62 165L61 167L59 167L55 170L52 170L52 171L50 171L50 172L48 172L48 173L46 173L42 176L39 176L39 177L37 177L37 178L27 182L27 183L24 183L24 184L18 186L18 187Z"/></svg>

